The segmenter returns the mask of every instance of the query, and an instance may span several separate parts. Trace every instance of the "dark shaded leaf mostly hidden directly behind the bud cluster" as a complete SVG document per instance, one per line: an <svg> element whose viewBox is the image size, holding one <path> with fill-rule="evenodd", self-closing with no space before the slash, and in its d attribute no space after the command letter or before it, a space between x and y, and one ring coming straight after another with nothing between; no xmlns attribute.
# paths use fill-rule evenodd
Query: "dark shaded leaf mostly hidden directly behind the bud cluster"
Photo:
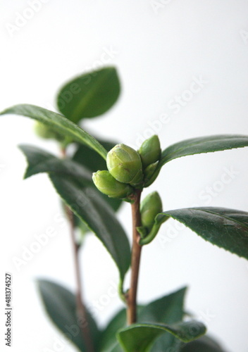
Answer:
<svg viewBox="0 0 248 352"><path fill-rule="evenodd" d="M117 144L114 142L101 140L99 140L99 143L104 146L106 151L110 151L113 146ZM97 154L95 151L82 144L78 145L77 150L75 151L75 154L73 156L73 161L80 163L92 172L96 172L97 170L107 170L106 161L104 161L104 159L101 158L101 156L99 156L99 154ZM109 203L111 208L113 208L113 210L115 211L118 210L118 208L120 208L120 205L123 203L121 199L110 198L105 194L102 194L102 196L104 197L106 202Z"/></svg>

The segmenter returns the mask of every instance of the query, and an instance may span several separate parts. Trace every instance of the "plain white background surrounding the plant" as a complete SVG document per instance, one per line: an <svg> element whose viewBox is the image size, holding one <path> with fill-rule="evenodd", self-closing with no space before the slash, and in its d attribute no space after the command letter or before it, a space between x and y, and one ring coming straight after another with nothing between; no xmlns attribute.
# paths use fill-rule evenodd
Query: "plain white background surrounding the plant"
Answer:
<svg viewBox="0 0 248 352"><path fill-rule="evenodd" d="M191 137L248 134L246 0L154 1L158 8L149 0L46 0L46 4L39 1L36 13L30 12L31 3L0 4L0 110L16 103L55 109L58 87L104 65L105 57L108 65L118 68L122 94L104 117L85 123L99 136L136 147L141 137L154 132L164 149ZM21 24L22 15L31 18L24 19L22 27L11 27ZM111 56L103 56L106 49ZM189 98L185 90L196 77L205 83ZM187 99L179 111L170 105L175 96ZM167 122L158 122L164 114L169 116ZM8 271L13 275L12 351L75 351L70 344L61 344L61 334L46 318L35 287L35 279L45 277L74 289L75 277L68 229L55 221L61 213L58 196L46 175L22 180L26 164L18 144L58 153L53 142L35 137L33 124L20 116L0 119L0 344L5 347L4 272ZM248 149L178 159L163 168L151 190L159 190L165 210L195 204L248 210L247 160ZM227 180L226 170L234 170L229 183L221 181ZM214 193L207 193L207 187ZM130 233L128 204L118 216ZM173 220L163 225L143 251L139 301L188 285L187 310L206 322L226 351L247 352L247 261L175 226ZM23 246L30 248L35 234L49 227L56 236L18 270L13 258L22 258ZM87 304L98 302L97 320L104 325L121 306L117 297L108 296L118 273L93 236L82 251L82 275Z"/></svg>

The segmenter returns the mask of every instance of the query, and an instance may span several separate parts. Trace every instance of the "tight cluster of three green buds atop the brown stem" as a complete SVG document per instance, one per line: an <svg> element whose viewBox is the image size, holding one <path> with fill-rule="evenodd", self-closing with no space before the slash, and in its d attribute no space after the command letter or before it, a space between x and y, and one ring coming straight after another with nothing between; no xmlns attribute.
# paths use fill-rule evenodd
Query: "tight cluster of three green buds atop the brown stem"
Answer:
<svg viewBox="0 0 248 352"><path fill-rule="evenodd" d="M107 170L93 174L95 186L112 198L128 199L135 189L142 189L161 158L159 138L153 136L135 151L125 144L117 144L106 158Z"/></svg>

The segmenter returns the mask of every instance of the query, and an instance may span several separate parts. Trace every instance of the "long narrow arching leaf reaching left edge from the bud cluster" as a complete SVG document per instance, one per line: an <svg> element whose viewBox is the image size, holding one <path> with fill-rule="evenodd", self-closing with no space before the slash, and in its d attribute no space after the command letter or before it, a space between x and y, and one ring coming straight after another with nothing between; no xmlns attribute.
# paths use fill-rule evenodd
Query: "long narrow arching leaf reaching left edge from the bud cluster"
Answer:
<svg viewBox="0 0 248 352"><path fill-rule="evenodd" d="M43 122L63 136L70 137L75 142L86 144L106 160L107 151L97 142L97 139L58 113L40 108L39 106L20 104L0 113L0 115L6 114L22 115Z"/></svg>

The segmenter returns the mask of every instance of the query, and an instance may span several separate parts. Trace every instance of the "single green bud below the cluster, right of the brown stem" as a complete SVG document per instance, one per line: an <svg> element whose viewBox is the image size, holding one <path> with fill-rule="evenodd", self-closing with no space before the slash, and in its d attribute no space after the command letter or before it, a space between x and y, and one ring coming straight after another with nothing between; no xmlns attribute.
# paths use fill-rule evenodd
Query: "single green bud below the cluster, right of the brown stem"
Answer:
<svg viewBox="0 0 248 352"><path fill-rule="evenodd" d="M140 204L142 226L151 230L155 217L162 211L162 202L158 192L152 192Z"/></svg>

